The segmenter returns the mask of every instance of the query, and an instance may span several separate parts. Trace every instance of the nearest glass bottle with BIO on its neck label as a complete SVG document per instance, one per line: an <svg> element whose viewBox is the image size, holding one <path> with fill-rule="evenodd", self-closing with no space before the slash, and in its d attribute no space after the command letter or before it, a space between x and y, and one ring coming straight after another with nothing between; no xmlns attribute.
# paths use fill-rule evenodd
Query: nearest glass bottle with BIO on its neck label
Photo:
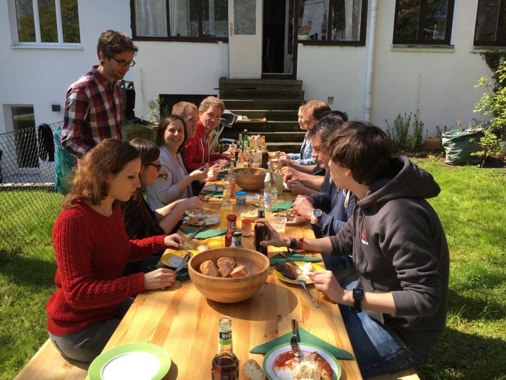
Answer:
<svg viewBox="0 0 506 380"><path fill-rule="evenodd" d="M232 318L220 318L218 354L211 364L213 380L236 380L239 378L239 360L232 349Z"/></svg>

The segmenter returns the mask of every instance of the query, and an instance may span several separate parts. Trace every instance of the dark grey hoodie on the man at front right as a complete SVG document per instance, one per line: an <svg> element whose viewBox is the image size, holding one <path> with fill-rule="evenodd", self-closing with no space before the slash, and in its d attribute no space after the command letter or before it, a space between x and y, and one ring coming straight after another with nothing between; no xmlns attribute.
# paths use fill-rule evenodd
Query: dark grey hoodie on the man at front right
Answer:
<svg viewBox="0 0 506 380"><path fill-rule="evenodd" d="M392 292L395 315L367 314L415 349L430 349L446 321L448 245L425 200L439 192L432 175L407 157L394 158L391 173L371 184L353 218L330 238L332 254L353 252L358 288Z"/></svg>

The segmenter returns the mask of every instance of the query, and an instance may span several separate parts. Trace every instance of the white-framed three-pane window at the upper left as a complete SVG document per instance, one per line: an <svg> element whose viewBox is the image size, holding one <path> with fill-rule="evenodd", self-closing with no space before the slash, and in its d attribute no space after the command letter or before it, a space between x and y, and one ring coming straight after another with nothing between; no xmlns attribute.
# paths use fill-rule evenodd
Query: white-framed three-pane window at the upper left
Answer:
<svg viewBox="0 0 506 380"><path fill-rule="evenodd" d="M77 0L15 0L18 42L78 44Z"/></svg>

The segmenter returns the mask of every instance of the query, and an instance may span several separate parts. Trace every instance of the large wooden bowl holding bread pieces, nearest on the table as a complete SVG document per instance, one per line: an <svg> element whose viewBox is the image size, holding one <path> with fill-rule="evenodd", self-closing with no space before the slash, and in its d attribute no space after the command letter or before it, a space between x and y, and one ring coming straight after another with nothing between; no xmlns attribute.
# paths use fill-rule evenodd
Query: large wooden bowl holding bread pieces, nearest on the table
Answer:
<svg viewBox="0 0 506 380"><path fill-rule="evenodd" d="M231 257L236 265L244 265L249 276L210 277L200 273L202 262L213 260L217 264L220 257ZM269 259L260 252L246 248L215 248L193 256L188 262L188 272L192 284L202 295L216 302L233 303L250 298L264 286L269 266Z"/></svg>

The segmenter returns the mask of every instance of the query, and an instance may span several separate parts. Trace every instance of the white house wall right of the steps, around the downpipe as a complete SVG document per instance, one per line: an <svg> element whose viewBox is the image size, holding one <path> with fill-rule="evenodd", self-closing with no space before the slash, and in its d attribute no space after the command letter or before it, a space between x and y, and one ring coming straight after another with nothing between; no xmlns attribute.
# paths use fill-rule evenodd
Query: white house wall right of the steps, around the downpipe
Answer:
<svg viewBox="0 0 506 380"><path fill-rule="evenodd" d="M463 125L473 124L473 118L486 119L473 112L474 103L485 92L474 86L479 78L491 77L478 54L486 49L472 52L477 4L477 0L455 2L453 49L392 48L395 1L378 1L371 123L386 129L385 120L392 126L399 113L419 109L429 136L435 136L436 125L450 129L457 118ZM367 46L299 44L298 59L297 77L304 81L307 100L326 101L333 96L332 109L347 111L350 119L364 119Z"/></svg>

